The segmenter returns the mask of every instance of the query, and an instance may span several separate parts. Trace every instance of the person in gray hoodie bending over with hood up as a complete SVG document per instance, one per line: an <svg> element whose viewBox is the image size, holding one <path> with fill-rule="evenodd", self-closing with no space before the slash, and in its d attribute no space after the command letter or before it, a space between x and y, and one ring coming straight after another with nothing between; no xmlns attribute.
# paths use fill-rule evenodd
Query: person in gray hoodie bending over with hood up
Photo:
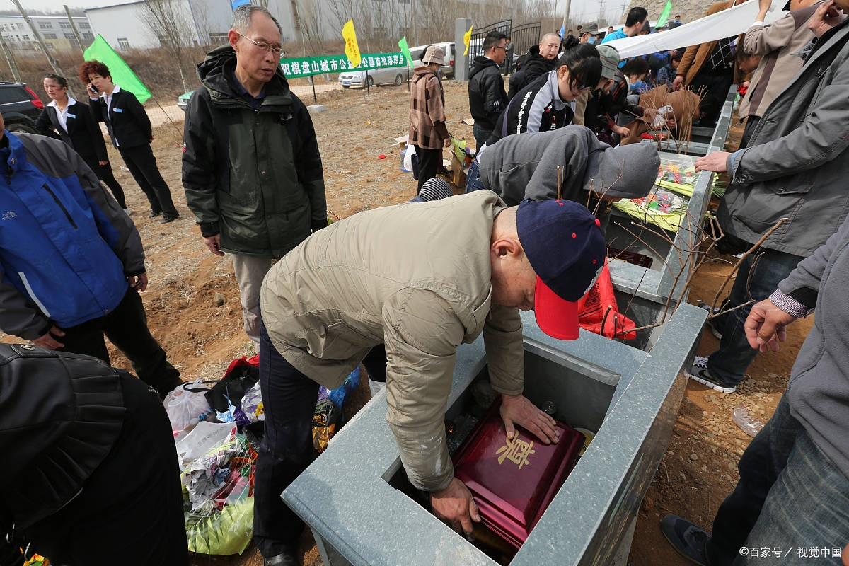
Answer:
<svg viewBox="0 0 849 566"><path fill-rule="evenodd" d="M508 206L558 195L582 205L593 199L638 199L655 184L660 165L652 144L611 148L588 127L565 126L487 146L469 167L466 192L490 189Z"/></svg>

